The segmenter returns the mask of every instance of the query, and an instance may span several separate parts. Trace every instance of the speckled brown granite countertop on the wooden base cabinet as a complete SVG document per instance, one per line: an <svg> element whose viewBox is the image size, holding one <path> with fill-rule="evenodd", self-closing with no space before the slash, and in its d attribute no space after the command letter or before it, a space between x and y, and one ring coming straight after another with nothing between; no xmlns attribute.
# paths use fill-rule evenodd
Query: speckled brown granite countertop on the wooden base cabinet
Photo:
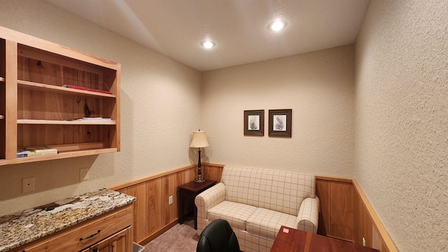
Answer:
<svg viewBox="0 0 448 252"><path fill-rule="evenodd" d="M18 248L46 235L99 216L136 200L102 189L0 217L0 252Z"/></svg>

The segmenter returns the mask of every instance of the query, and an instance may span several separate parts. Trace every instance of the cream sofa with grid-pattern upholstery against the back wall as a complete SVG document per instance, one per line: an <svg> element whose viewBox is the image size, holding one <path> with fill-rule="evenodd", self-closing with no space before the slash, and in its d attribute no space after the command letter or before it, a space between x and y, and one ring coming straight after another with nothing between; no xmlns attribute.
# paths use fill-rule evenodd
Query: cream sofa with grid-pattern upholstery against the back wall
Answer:
<svg viewBox="0 0 448 252"><path fill-rule="evenodd" d="M316 177L311 174L226 165L221 183L195 198L197 235L227 220L241 251L266 251L281 225L317 232Z"/></svg>

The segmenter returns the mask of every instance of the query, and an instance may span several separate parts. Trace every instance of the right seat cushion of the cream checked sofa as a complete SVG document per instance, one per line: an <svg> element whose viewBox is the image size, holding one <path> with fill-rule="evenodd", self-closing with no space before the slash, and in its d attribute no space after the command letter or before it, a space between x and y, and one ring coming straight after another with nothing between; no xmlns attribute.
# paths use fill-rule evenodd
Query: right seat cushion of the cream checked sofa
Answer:
<svg viewBox="0 0 448 252"><path fill-rule="evenodd" d="M281 225L294 228L297 216L258 208L246 221L246 231L262 237L275 239Z"/></svg>

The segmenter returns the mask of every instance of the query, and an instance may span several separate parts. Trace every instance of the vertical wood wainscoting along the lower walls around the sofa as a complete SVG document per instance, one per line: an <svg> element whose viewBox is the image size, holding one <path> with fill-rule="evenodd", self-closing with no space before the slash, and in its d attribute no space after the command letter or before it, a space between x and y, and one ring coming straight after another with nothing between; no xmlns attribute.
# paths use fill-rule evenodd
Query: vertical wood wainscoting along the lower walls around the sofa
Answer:
<svg viewBox="0 0 448 252"><path fill-rule="evenodd" d="M221 181L224 165L202 164L205 179ZM110 188L137 197L134 202L134 241L146 244L178 223L177 187L193 181L197 166L162 172ZM173 195L173 204L168 197ZM398 251L355 180L316 176L320 200L318 234L377 248Z"/></svg>

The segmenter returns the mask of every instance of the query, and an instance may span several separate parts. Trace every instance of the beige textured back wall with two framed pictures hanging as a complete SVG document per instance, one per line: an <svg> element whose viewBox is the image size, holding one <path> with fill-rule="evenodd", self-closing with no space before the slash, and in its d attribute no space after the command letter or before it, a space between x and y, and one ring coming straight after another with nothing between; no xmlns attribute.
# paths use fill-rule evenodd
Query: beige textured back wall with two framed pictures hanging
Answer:
<svg viewBox="0 0 448 252"><path fill-rule="evenodd" d="M203 74L201 130L212 163L353 177L353 47ZM265 136L245 137L244 110L265 110ZM268 137L269 109L293 109L292 138Z"/></svg>

